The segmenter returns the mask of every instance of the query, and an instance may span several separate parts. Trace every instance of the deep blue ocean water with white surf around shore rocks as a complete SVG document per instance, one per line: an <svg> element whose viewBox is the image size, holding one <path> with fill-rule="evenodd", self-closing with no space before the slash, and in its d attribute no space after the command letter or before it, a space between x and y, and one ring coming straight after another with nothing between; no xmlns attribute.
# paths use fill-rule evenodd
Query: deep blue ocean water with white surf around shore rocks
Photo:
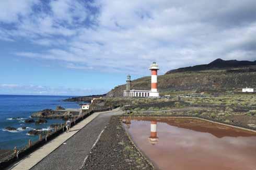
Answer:
<svg viewBox="0 0 256 170"><path fill-rule="evenodd" d="M63 99L72 96L30 96L30 95L0 95L0 150L24 147L28 140L38 140L38 136L27 135L31 129L47 129L53 123L63 123L63 120L48 119L47 123L36 125L34 123L26 124L31 113L43 109L55 109L56 106L64 108L79 108L77 102L67 102ZM19 119L12 119L19 117ZM36 120L36 119L34 119ZM15 131L8 131L5 127L11 126L17 128ZM25 130L21 127L26 126Z"/></svg>

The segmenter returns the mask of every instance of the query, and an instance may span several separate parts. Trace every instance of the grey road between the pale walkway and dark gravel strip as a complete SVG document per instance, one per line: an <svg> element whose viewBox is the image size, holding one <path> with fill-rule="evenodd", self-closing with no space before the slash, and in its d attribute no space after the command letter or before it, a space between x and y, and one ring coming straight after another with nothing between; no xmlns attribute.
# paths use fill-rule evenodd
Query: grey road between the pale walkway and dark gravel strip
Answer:
<svg viewBox="0 0 256 170"><path fill-rule="evenodd" d="M79 169L110 117L121 113L115 111L100 114L69 138L65 145L61 145L31 169Z"/></svg>

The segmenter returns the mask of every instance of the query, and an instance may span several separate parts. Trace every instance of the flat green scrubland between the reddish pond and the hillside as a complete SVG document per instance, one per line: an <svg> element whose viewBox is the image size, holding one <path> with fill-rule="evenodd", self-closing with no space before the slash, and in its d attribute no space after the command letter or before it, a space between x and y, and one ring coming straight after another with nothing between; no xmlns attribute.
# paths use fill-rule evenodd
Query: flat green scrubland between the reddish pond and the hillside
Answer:
<svg viewBox="0 0 256 170"><path fill-rule="evenodd" d="M139 100L139 99L135 99ZM142 99L142 101L146 101ZM218 97L181 97L166 100L156 100L157 105L145 104L131 107L133 116L194 116L203 119L222 122L240 127L256 129L256 96L251 94L220 95ZM138 102L138 101L137 101ZM161 107L163 102L169 106Z"/></svg>

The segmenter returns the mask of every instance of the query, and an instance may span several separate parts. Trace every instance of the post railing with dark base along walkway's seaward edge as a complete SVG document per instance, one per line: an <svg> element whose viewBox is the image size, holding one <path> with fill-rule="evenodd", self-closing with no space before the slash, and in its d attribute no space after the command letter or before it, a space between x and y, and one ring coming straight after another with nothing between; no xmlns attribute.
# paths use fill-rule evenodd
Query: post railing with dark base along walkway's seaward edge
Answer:
<svg viewBox="0 0 256 170"><path fill-rule="evenodd" d="M70 118L71 127L79 123L80 121L84 120L87 116L91 115L92 113L109 111L118 107L120 106L113 106L108 108L90 108L86 112L82 112L82 113L80 112L79 115L76 115ZM15 146L13 150L3 151L3 153L0 153L0 169L4 169L7 166L13 164L17 160L30 154L34 150L42 147L47 142L59 136L65 131L66 131L66 125L65 123L62 123L60 125L54 126L54 128L43 131L43 133L41 133L38 136L38 140L36 141L29 139L25 147L17 148Z"/></svg>

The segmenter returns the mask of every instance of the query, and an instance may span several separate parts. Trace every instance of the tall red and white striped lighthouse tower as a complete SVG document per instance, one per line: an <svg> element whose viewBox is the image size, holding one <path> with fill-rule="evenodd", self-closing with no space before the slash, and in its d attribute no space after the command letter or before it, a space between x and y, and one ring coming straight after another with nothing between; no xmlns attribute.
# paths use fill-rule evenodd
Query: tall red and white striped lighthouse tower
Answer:
<svg viewBox="0 0 256 170"><path fill-rule="evenodd" d="M150 65L149 70L151 70L151 90L149 97L158 98L159 92L157 91L157 70L159 70L158 64L153 62Z"/></svg>

